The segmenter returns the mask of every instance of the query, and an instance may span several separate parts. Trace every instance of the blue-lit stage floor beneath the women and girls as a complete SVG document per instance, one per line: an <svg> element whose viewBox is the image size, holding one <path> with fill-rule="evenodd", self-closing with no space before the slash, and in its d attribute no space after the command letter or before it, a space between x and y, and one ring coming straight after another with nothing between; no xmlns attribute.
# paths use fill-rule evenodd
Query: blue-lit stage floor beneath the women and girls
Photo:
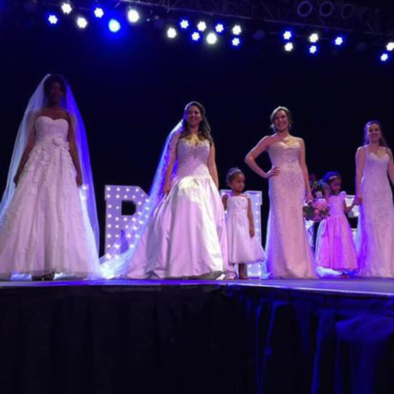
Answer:
<svg viewBox="0 0 394 394"><path fill-rule="evenodd" d="M303 292L340 293L367 296L394 296L394 279L320 279L320 280L55 280L48 282L10 281L0 282L1 288L53 287L53 286L242 286L299 290Z"/></svg>

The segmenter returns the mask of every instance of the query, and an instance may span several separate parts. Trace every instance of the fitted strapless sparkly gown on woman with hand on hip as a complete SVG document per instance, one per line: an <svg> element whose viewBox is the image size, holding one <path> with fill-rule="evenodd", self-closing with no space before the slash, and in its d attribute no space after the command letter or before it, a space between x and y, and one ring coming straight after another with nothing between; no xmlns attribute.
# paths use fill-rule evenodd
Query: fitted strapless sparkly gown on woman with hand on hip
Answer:
<svg viewBox="0 0 394 394"><path fill-rule="evenodd" d="M275 142L268 149L272 165L280 169L269 179L265 250L271 278L316 278L302 210L305 184L300 152L299 142Z"/></svg>

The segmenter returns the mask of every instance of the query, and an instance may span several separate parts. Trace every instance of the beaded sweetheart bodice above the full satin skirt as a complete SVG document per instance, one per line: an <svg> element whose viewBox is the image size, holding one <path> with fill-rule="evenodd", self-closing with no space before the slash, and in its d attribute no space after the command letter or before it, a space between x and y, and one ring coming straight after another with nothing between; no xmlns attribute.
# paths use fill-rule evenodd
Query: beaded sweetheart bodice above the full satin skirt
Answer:
<svg viewBox="0 0 394 394"><path fill-rule="evenodd" d="M209 176L208 156L209 141L201 141L197 145L185 139L178 141L177 159L178 176Z"/></svg>

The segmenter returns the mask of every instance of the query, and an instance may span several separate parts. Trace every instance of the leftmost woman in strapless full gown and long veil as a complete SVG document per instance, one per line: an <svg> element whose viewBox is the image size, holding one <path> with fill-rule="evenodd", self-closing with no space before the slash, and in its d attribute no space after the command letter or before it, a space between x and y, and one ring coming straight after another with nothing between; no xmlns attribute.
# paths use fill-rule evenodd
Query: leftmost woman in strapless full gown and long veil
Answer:
<svg viewBox="0 0 394 394"><path fill-rule="evenodd" d="M19 126L0 203L0 277L95 277L98 241L84 124L64 78L47 75Z"/></svg>

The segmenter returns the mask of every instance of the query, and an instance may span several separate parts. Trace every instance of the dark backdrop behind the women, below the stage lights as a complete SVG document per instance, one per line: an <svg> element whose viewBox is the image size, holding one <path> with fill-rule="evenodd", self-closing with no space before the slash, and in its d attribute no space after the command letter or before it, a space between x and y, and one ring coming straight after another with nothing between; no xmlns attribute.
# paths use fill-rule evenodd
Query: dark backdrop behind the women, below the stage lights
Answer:
<svg viewBox="0 0 394 394"><path fill-rule="evenodd" d="M329 40L321 42L320 53L312 57L302 38L293 53L284 53L280 37L270 34L275 29L254 41L250 24L245 24L242 47L234 49L228 39L214 47L186 36L169 41L164 29L149 23L124 23L113 35L103 21L91 20L80 31L65 18L50 27L40 11L6 16L0 17L0 190L29 97L46 73L61 73L88 132L102 230L104 185L140 185L148 191L166 135L191 100L207 109L221 187L228 168L240 166L247 189L263 190L263 227L267 182L245 166L244 157L270 133L274 107L292 110L292 133L305 140L309 171L341 172L348 193L354 192L354 153L364 124L380 120L388 144L394 145L394 63L379 62L383 47L357 51L357 34L348 35L338 53ZM322 34L329 38L334 32ZM266 154L260 164L269 169Z"/></svg>

